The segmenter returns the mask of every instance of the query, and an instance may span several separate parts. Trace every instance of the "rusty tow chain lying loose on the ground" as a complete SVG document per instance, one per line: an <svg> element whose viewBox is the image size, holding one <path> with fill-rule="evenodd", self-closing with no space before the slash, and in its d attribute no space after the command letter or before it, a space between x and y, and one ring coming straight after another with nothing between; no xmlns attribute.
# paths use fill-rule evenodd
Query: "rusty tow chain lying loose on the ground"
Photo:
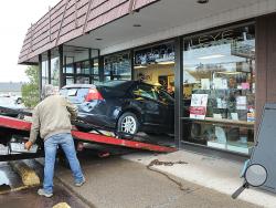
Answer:
<svg viewBox="0 0 276 208"><path fill-rule="evenodd" d="M159 173L159 174L166 176L169 180L171 180L172 183L174 183L176 185L178 185L178 187L179 187L180 190L184 190L184 191L190 193L191 191L190 188L184 188L183 185L180 181L173 179L168 174L166 174L166 173L163 173L161 170L152 168L155 165L158 165L158 166L160 166L160 165L163 165L163 166L173 166L174 164L187 165L188 163L187 162L181 162L181 160L179 160L179 162L160 162L158 159L153 159L152 162L149 163L149 165L147 165L147 168L149 170L151 170L151 171L156 171L156 173Z"/></svg>

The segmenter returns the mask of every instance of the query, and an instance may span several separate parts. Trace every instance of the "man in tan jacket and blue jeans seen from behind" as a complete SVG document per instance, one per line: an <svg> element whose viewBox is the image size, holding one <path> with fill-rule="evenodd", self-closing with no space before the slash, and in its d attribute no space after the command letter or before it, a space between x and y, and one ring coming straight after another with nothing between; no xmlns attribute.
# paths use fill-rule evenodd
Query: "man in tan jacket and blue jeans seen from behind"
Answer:
<svg viewBox="0 0 276 208"><path fill-rule="evenodd" d="M71 135L71 119L76 118L77 107L65 97L57 95L53 85L43 87L42 97L44 100L33 111L31 135L29 142L25 143L25 148L31 148L39 134L44 139L44 181L43 188L39 189L38 194L52 197L55 155L59 145L67 157L75 186L82 186L85 183L85 178L76 157L74 141Z"/></svg>

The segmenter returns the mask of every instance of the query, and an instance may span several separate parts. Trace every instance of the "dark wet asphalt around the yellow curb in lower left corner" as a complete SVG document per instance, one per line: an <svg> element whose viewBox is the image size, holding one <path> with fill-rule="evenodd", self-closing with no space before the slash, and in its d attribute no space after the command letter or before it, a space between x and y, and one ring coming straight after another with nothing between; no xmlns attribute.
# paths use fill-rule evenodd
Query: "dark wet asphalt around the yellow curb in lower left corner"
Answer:
<svg viewBox="0 0 276 208"><path fill-rule="evenodd" d="M33 159L24 163L35 170L43 179L43 166ZM0 207L1 208L52 208L60 202L66 202L72 208L92 207L83 202L74 193L55 179L55 193L52 198L45 198L36 194L40 186L25 187L20 176L9 166L9 163L0 163Z"/></svg>

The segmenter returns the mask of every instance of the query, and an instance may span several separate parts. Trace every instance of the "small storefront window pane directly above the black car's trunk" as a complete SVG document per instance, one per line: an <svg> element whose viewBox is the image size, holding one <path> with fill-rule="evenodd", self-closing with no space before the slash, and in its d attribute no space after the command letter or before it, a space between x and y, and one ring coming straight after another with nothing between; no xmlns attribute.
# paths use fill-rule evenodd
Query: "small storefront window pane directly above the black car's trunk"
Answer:
<svg viewBox="0 0 276 208"><path fill-rule="evenodd" d="M106 56L104 60L105 81L131 80L131 62L129 53Z"/></svg>

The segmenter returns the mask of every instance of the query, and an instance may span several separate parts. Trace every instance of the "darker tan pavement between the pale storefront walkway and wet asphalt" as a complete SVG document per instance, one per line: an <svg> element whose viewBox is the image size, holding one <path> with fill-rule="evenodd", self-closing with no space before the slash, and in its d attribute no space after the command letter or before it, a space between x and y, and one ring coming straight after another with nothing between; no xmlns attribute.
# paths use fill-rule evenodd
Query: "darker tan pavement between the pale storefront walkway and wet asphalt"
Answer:
<svg viewBox="0 0 276 208"><path fill-rule="evenodd" d="M82 199L97 208L252 208L258 207L230 196L173 177L183 189L166 176L148 170L144 164L152 158L172 159L178 155L131 154L124 157L110 156L79 158L87 183L74 187L70 169L59 166L56 177ZM126 158L126 159L124 159ZM139 162L139 163L134 163ZM179 159L179 158L178 158ZM190 166L181 165L181 166ZM171 166L170 173L178 168ZM184 168L184 167L181 167ZM177 169L176 169L177 170Z"/></svg>

